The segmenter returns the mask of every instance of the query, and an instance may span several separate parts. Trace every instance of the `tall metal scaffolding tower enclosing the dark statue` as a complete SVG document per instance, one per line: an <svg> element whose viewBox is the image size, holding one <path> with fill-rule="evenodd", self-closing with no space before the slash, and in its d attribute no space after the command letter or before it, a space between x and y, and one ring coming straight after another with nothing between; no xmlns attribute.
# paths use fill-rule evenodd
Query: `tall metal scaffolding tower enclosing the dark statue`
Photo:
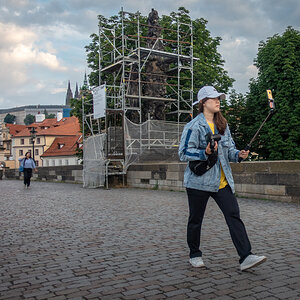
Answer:
<svg viewBox="0 0 300 300"><path fill-rule="evenodd" d="M148 154L151 149L177 152L182 128L193 115L193 67L198 59L193 57L192 22L177 19L172 29L144 20L139 12L122 9L117 22L99 22L99 86L106 85L106 176L116 173L110 169L126 173L130 163L145 158L146 149ZM97 129L84 109L83 122Z"/></svg>

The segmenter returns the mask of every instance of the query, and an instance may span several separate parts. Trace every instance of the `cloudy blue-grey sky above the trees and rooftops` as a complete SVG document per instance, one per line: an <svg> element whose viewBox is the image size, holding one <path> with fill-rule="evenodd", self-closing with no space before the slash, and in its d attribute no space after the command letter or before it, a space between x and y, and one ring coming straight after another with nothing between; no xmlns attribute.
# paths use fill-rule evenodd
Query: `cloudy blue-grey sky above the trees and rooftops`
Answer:
<svg viewBox="0 0 300 300"><path fill-rule="evenodd" d="M0 108L64 104L68 80L74 93L89 73L84 46L98 31L98 14L123 7L169 15L180 6L222 38L219 52L241 93L257 74L258 43L289 25L300 30L299 0L0 0Z"/></svg>

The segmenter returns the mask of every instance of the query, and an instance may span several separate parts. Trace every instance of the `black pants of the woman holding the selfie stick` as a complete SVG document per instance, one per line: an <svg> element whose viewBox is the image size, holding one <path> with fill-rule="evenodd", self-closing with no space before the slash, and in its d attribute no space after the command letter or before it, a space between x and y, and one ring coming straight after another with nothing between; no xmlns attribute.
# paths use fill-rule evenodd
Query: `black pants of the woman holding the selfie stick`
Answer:
<svg viewBox="0 0 300 300"><path fill-rule="evenodd" d="M187 226L187 243L190 248L190 258L202 256L200 247L201 225L208 198L214 198L222 210L229 228L231 239L240 256L240 263L251 254L251 245L246 228L240 219L237 200L229 185L217 193L187 188L189 201L189 220Z"/></svg>

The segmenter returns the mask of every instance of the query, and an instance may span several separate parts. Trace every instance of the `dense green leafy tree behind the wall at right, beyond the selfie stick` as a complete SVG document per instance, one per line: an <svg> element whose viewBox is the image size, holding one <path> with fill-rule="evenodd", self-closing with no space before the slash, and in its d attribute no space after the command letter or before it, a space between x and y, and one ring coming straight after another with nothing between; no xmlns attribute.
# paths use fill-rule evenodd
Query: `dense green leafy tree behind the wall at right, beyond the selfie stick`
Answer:
<svg viewBox="0 0 300 300"><path fill-rule="evenodd" d="M288 27L259 44L258 77L250 81L240 129L248 143L268 114L266 90L276 111L262 128L252 150L260 159L300 159L300 32Z"/></svg>

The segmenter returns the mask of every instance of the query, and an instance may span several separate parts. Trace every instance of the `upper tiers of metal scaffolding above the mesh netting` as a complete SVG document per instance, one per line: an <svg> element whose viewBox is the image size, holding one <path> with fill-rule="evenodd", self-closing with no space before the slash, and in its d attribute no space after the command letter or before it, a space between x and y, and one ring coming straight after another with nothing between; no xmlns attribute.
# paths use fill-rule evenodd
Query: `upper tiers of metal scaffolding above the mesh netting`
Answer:
<svg viewBox="0 0 300 300"><path fill-rule="evenodd" d="M164 102L167 105L166 120L186 122L193 113L193 66L196 58L193 57L192 23L177 20L177 30L173 30L143 24L140 18L138 12L133 14L122 10L120 24L111 24L109 28L99 24L99 85L106 82L110 108L122 109L125 116L128 112L135 112L139 123L145 121L142 118L144 100ZM131 26L125 26L126 23ZM171 35L173 39L146 36L145 29L149 28L159 28L161 36ZM157 49L158 44L163 50ZM145 71L149 58L153 56L168 64L164 74ZM163 78L163 82L145 80L147 76L155 75ZM143 90L147 85L163 85L166 93L163 97L146 95Z"/></svg>

